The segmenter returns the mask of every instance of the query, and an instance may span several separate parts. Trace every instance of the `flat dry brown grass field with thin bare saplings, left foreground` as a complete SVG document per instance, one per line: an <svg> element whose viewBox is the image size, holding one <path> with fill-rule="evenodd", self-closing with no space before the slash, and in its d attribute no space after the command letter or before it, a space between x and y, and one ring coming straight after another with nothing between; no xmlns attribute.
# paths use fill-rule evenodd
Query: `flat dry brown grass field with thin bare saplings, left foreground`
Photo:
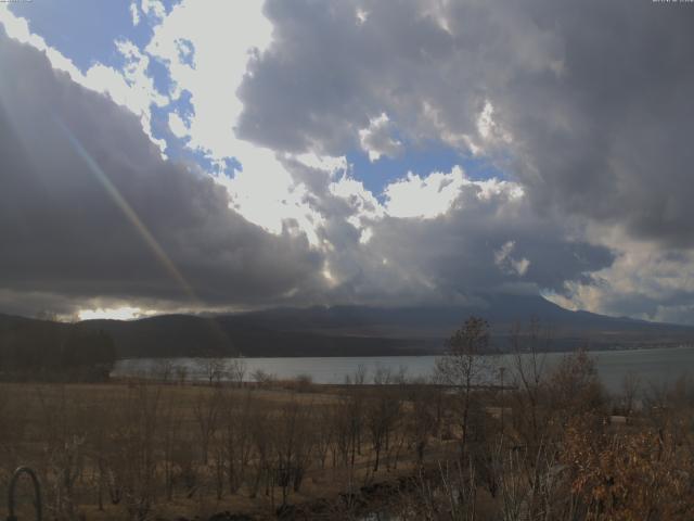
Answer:
<svg viewBox="0 0 694 521"><path fill-rule="evenodd" d="M0 486L7 490L17 466L37 469L49 519L178 519L221 511L274 519L283 501L334 499L412 474L414 456L404 429L395 434L395 418L393 425L373 427L391 436L387 446L384 437L374 471L371 435L358 423L365 420L367 404L378 402L377 389L355 386L348 393L297 382L272 387L2 383ZM408 409L403 389L386 394L382 408ZM355 403L364 418L338 433L335 423L347 419ZM374 420L381 412L387 408L373 410ZM233 454L244 445L249 454ZM432 457L451 450L435 445ZM240 474L233 485L232 466ZM22 488L22 512L29 516L30 495Z"/></svg>

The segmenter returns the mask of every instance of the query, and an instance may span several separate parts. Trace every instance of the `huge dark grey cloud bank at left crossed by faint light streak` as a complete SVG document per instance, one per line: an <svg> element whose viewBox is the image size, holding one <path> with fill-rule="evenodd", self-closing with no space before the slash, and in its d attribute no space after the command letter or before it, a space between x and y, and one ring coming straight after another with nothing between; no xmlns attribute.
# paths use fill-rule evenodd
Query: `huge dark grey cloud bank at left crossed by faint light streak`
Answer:
<svg viewBox="0 0 694 521"><path fill-rule="evenodd" d="M53 308L61 298L56 310L63 313L90 300L155 308L259 305L285 293L300 298L298 290L319 284L321 258L304 237L272 236L230 211L226 191L209 177L163 161L127 110L3 34L0 71L5 310L13 298L24 309L21 295L27 302L43 295ZM116 192L137 218L126 215ZM200 302L191 301L146 233ZM57 296L51 302L48 295Z"/></svg>

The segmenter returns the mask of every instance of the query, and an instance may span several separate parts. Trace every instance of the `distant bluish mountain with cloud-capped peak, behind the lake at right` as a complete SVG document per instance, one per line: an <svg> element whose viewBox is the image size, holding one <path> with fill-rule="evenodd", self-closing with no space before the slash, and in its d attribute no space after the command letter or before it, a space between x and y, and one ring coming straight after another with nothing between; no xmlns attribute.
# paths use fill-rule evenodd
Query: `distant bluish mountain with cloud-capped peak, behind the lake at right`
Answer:
<svg viewBox="0 0 694 521"><path fill-rule="evenodd" d="M694 342L694 327L571 312L541 296L490 294L455 306L332 306L273 308L216 317L224 328L254 325L273 331L406 341L415 351L440 350L470 316L485 318L498 348L509 346L514 326L537 319L549 329L551 347L641 347Z"/></svg>

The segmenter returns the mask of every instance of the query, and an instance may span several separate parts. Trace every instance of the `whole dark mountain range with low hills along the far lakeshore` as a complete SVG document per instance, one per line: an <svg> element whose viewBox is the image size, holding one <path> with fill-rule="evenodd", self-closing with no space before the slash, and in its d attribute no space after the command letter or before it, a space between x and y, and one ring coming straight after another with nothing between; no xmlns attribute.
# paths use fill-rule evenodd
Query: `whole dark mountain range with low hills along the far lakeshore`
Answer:
<svg viewBox="0 0 694 521"><path fill-rule="evenodd" d="M694 343L693 327L570 312L528 295L484 295L455 306L283 307L209 317L86 320L72 327L108 333L119 358L406 355L440 352L445 340L472 315L489 321L500 350L509 346L514 323L527 325L532 318L550 328L550 348L558 351ZM0 345L17 323L30 329L44 322L0 315Z"/></svg>

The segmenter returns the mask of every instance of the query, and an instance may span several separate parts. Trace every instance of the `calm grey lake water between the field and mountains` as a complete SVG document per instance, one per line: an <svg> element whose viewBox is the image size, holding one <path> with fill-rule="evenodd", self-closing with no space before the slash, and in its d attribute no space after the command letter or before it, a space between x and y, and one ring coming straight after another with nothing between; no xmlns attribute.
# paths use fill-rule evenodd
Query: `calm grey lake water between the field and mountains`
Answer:
<svg viewBox="0 0 694 521"><path fill-rule="evenodd" d="M542 355L547 367L557 364L565 354ZM619 392L625 377L637 374L643 385L671 384L683 374L694 373L694 346L592 352L597 373L608 391ZM393 372L404 371L408 378L427 378L434 372L435 356L374 356L374 357L296 357L296 358L241 358L246 368L245 380L253 380L254 371L260 369L280 379L310 376L316 383L344 383L354 377L360 367L365 368L369 383L380 368ZM235 360L226 359L231 367ZM114 377L153 377L162 374L166 363L174 368L185 368L189 380L205 380L208 363L202 358L138 358L119 360ZM510 355L494 357L496 367L505 367L510 374L513 360Z"/></svg>

